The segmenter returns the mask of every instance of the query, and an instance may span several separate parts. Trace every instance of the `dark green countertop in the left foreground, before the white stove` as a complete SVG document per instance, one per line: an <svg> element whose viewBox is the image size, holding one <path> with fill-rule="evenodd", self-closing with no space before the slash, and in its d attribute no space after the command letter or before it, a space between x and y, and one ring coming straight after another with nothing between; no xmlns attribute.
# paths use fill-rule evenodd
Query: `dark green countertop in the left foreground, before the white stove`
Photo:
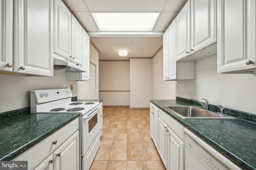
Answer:
<svg viewBox="0 0 256 170"><path fill-rule="evenodd" d="M0 160L12 160L79 117L79 113L26 113L0 121Z"/></svg>

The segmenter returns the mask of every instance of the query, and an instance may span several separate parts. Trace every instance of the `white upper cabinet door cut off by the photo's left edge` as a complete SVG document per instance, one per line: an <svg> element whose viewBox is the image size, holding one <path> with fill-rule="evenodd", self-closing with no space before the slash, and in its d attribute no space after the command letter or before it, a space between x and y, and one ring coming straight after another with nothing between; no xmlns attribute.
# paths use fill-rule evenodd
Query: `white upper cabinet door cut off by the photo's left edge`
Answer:
<svg viewBox="0 0 256 170"><path fill-rule="evenodd" d="M12 71L12 0L0 2L0 70Z"/></svg>

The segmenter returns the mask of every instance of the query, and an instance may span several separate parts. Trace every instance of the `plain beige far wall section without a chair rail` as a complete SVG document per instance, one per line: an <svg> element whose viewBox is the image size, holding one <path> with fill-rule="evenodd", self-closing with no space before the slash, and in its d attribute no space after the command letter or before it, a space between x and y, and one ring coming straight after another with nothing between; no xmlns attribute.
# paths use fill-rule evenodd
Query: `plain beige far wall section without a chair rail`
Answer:
<svg viewBox="0 0 256 170"><path fill-rule="evenodd" d="M152 59L130 59L130 107L150 107Z"/></svg>

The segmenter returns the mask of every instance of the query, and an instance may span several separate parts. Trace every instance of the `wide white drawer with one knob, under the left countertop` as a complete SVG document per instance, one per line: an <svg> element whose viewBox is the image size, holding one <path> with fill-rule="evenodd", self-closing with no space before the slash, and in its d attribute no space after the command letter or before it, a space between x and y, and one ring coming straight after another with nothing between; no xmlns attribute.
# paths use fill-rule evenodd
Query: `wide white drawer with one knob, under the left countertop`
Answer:
<svg viewBox="0 0 256 170"><path fill-rule="evenodd" d="M74 132L79 129L79 118L75 119L68 125L62 127L34 147L20 154L14 161L28 161L28 169L32 169L38 165L41 160L44 160L54 150L56 150L64 141L66 141ZM57 141L56 145L53 144Z"/></svg>

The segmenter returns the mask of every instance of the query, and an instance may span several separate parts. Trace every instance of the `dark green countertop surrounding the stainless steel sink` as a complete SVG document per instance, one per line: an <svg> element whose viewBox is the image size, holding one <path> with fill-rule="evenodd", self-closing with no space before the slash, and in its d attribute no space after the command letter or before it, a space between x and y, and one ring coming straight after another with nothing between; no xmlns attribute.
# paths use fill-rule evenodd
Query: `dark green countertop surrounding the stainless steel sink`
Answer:
<svg viewBox="0 0 256 170"><path fill-rule="evenodd" d="M182 119L163 106L190 105L178 100L150 100L242 169L256 170L256 123L244 119Z"/></svg>

